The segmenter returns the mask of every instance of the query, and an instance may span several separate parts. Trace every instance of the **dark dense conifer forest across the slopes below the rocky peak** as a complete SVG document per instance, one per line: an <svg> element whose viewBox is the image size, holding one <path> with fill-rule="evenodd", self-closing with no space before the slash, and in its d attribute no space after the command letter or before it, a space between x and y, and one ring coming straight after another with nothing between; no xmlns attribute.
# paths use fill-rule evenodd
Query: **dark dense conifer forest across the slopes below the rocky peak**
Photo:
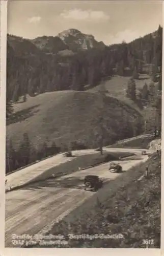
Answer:
<svg viewBox="0 0 164 256"><path fill-rule="evenodd" d="M69 54L60 54L63 50L69 50ZM129 44L75 52L59 37L28 40L8 35L7 101L17 102L20 96L25 101L26 94L35 96L47 91L83 91L86 85L94 87L113 74L125 76L127 70L136 78L146 72L154 74L155 79L161 56L160 26L156 32Z"/></svg>

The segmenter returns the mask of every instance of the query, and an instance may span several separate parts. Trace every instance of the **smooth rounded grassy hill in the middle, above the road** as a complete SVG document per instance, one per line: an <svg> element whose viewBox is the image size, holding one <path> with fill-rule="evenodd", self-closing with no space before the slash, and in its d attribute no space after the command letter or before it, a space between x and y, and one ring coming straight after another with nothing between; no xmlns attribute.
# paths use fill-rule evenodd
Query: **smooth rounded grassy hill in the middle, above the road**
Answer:
<svg viewBox="0 0 164 256"><path fill-rule="evenodd" d="M88 92L51 92L29 97L25 103L15 104L16 117L7 125L7 135L12 138L14 147L18 147L24 132L38 146L47 138L57 144L79 140L88 142L89 146L97 146L93 136L93 120L98 114L98 95ZM122 110L129 118L139 115L130 106L121 104L117 99L106 97L106 119L113 126L114 134L119 135L122 126ZM110 137L110 136L109 136ZM110 139L110 138L109 138ZM119 139L119 138L118 138Z"/></svg>

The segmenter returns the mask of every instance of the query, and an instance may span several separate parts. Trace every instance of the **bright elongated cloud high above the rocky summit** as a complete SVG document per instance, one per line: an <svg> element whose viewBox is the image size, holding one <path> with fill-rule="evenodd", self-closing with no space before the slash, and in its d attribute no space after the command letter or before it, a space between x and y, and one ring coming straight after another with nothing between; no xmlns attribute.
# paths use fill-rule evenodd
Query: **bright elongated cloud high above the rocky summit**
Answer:
<svg viewBox="0 0 164 256"><path fill-rule="evenodd" d="M105 14L103 11L92 11L86 10L83 11L81 9L73 9L73 10L64 10L60 17L64 19L72 19L72 20L86 20L87 22L100 22L104 20L110 19L110 16Z"/></svg>

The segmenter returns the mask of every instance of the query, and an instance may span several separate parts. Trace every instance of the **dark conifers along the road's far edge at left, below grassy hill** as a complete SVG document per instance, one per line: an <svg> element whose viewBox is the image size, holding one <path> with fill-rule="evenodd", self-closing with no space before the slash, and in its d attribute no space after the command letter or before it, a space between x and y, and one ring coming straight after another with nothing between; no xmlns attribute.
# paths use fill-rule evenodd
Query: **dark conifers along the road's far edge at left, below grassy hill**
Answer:
<svg viewBox="0 0 164 256"><path fill-rule="evenodd" d="M73 141L71 143L71 150L83 150L87 147L79 142ZM6 174L24 167L28 164L42 160L49 156L54 156L60 152L67 152L69 150L67 144L62 144L60 147L53 141L50 145L44 141L41 146L36 147L28 135L24 133L22 136L19 148L15 150L13 141L10 138L6 139Z"/></svg>

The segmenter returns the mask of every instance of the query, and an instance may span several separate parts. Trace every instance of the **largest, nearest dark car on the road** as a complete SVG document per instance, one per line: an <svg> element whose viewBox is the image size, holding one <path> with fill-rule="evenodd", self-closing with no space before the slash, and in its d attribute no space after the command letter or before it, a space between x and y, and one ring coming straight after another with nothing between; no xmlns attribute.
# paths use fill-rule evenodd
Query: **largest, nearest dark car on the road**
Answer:
<svg viewBox="0 0 164 256"><path fill-rule="evenodd" d="M96 175L87 175L84 179L84 186L85 190L96 191L102 187L102 180Z"/></svg>

